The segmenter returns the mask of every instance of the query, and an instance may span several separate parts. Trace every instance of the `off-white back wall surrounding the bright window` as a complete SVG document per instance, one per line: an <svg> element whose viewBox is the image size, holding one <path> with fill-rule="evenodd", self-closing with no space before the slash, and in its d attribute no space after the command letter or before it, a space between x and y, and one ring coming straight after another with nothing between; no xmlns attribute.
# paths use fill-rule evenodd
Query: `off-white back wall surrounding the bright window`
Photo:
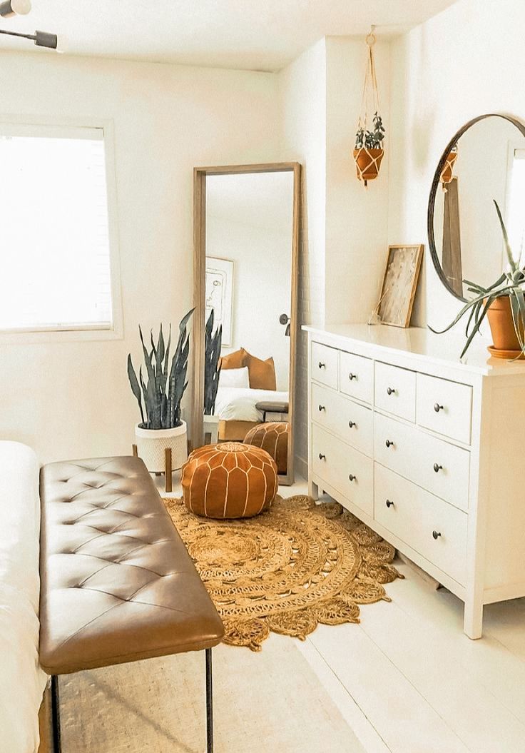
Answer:
<svg viewBox="0 0 525 753"><path fill-rule="evenodd" d="M114 120L124 319L123 340L0 343L0 437L42 462L127 454L138 323L176 327L192 303L193 166L275 161L275 76L2 53L0 90L2 114Z"/></svg>

